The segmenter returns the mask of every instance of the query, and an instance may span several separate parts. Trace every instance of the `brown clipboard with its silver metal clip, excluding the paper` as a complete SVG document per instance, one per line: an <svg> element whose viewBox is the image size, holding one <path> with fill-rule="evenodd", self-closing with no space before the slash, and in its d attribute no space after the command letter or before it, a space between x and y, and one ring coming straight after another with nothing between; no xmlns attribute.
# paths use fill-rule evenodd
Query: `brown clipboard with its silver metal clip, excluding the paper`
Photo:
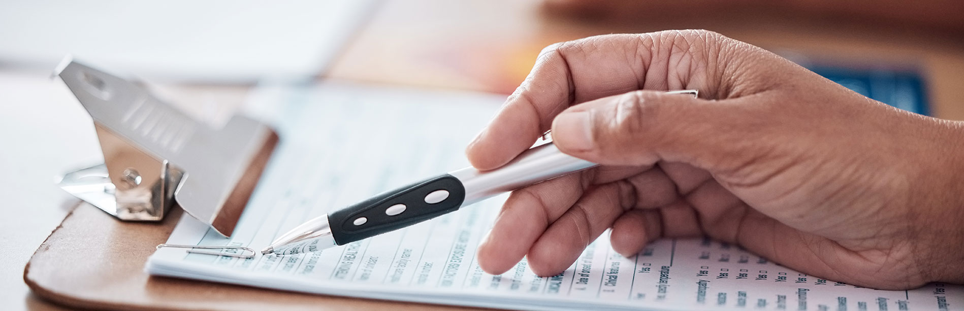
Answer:
<svg viewBox="0 0 964 311"><path fill-rule="evenodd" d="M468 310L148 275L147 258L181 217L230 235L278 136L239 116L206 128L137 85L69 58L58 71L94 118L106 163L60 182L82 201L24 269L40 298L97 310Z"/></svg>

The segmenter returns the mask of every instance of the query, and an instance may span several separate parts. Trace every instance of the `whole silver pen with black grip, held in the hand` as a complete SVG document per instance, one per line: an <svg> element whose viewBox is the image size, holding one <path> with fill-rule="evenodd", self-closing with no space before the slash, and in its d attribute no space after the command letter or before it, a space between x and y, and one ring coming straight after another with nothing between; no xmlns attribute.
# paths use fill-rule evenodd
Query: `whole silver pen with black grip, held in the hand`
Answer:
<svg viewBox="0 0 964 311"><path fill-rule="evenodd" d="M670 92L697 96L695 90ZM523 151L501 168L449 171L308 220L275 239L261 253L286 254L288 249L306 245L308 251L343 246L440 217L497 194L596 166L545 143Z"/></svg>

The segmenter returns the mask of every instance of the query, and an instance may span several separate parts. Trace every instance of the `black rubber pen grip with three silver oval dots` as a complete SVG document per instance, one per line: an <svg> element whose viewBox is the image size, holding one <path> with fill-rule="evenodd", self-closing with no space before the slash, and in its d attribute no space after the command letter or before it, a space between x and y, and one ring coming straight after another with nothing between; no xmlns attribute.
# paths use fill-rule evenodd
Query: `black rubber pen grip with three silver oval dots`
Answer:
<svg viewBox="0 0 964 311"><path fill-rule="evenodd" d="M343 246L457 211L465 197L462 182L443 174L329 213L328 221Z"/></svg>

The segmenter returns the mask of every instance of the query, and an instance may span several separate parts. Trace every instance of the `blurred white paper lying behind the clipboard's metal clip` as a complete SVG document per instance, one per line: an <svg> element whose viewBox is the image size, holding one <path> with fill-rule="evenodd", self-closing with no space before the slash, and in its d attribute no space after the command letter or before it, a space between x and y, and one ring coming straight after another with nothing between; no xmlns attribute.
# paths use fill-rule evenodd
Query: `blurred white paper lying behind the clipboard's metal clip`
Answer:
<svg viewBox="0 0 964 311"><path fill-rule="evenodd" d="M67 54L151 80L238 83L320 73L377 0L8 1L0 67Z"/></svg>

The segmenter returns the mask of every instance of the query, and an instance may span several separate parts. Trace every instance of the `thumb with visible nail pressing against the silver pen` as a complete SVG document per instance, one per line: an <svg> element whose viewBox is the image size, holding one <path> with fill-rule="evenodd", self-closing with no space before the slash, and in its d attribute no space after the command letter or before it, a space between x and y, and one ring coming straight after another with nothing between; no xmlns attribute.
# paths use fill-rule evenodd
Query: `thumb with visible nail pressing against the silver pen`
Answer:
<svg viewBox="0 0 964 311"><path fill-rule="evenodd" d="M552 121L552 141L567 154L602 165L670 161L714 172L747 159L753 144L747 142L760 135L753 129L761 117L740 101L631 91L562 112Z"/></svg>

